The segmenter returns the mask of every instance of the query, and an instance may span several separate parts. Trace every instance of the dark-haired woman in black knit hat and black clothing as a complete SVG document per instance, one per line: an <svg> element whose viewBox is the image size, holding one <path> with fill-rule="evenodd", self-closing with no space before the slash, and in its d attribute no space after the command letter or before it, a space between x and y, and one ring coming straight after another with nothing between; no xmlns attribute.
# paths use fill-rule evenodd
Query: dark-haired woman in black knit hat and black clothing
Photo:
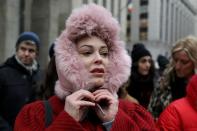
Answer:
<svg viewBox="0 0 197 131"><path fill-rule="evenodd" d="M152 56L142 43L136 43L133 45L131 58L131 76L127 91L147 109L154 88L155 69Z"/></svg>

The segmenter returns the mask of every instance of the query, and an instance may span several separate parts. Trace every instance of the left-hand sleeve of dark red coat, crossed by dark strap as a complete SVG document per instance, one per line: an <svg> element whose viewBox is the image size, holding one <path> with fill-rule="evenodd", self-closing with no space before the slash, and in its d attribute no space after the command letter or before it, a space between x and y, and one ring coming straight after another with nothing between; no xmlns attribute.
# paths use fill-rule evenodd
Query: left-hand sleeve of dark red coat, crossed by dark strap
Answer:
<svg viewBox="0 0 197 131"><path fill-rule="evenodd" d="M18 114L15 121L15 131L85 131L80 123L76 122L65 111L45 128L45 109L42 102L26 105Z"/></svg>

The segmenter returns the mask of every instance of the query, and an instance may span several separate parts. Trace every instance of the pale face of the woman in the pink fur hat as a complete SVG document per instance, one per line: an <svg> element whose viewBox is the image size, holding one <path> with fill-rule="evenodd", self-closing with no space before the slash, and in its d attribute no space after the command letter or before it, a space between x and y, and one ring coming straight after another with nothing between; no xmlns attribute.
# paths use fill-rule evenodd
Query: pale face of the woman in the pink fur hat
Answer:
<svg viewBox="0 0 197 131"><path fill-rule="evenodd" d="M77 51L90 73L90 83L94 87L103 86L109 63L109 50L105 42L98 37L86 37L77 42Z"/></svg>

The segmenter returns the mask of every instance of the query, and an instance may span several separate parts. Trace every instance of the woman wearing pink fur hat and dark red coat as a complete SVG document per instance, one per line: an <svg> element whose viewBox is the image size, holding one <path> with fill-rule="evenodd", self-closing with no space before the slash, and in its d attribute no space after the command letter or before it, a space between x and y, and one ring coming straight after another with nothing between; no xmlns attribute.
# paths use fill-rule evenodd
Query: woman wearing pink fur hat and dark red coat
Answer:
<svg viewBox="0 0 197 131"><path fill-rule="evenodd" d="M118 100L128 80L131 59L119 38L120 26L111 13L96 4L75 9L55 42L58 81L48 102L26 105L16 118L15 131L130 131L155 130L140 105Z"/></svg>

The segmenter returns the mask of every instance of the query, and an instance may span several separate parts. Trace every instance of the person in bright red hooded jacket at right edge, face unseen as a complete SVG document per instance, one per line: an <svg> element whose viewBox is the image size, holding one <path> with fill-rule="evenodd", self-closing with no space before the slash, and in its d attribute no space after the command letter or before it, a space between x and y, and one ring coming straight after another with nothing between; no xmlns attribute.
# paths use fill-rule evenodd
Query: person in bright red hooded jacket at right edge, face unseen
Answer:
<svg viewBox="0 0 197 131"><path fill-rule="evenodd" d="M161 113L157 126L161 131L197 130L197 75L189 80L186 96L166 107Z"/></svg>

